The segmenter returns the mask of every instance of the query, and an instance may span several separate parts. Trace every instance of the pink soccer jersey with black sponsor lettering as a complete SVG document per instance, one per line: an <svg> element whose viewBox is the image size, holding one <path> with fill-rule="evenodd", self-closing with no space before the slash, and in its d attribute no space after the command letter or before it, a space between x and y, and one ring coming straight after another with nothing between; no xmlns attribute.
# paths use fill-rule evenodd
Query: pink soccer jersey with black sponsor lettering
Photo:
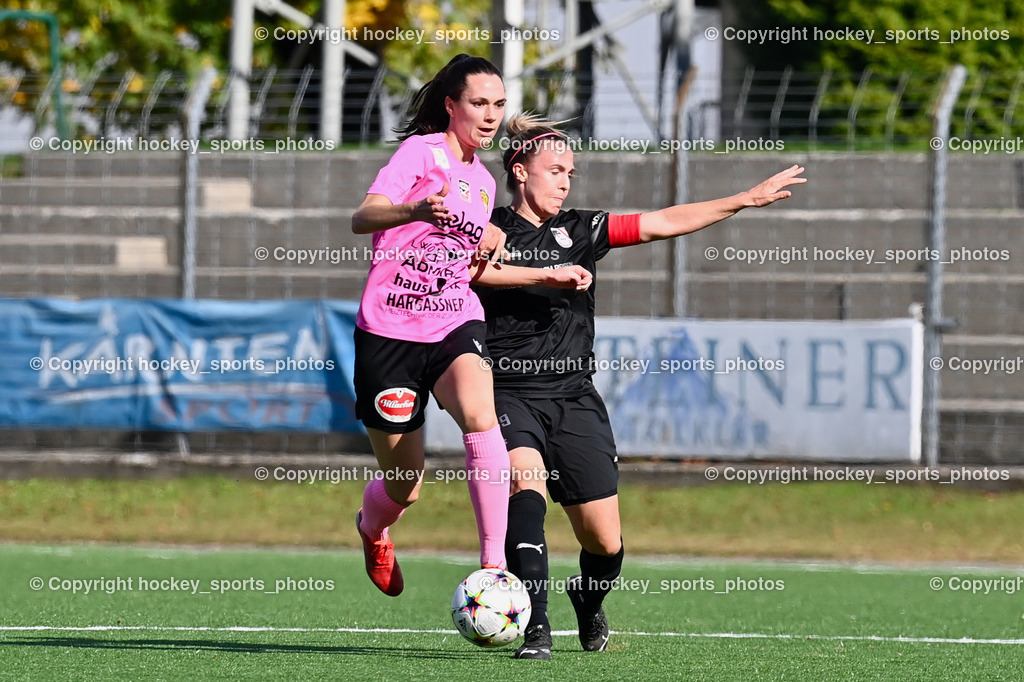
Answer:
<svg viewBox="0 0 1024 682"><path fill-rule="evenodd" d="M374 232L373 263L355 324L378 336L433 342L483 308L469 288L469 261L494 206L495 179L478 157L466 166L444 133L413 135L398 146L367 194L392 204L421 201L440 191L452 216L446 228L411 222Z"/></svg>

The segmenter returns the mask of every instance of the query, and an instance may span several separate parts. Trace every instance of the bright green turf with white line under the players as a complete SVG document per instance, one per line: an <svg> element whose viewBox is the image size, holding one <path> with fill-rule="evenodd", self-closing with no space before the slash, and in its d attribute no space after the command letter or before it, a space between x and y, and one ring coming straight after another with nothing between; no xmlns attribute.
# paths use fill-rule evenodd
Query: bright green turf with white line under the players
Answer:
<svg viewBox="0 0 1024 682"><path fill-rule="evenodd" d="M560 593L573 562L561 557L552 565L554 658L521 662L455 634L447 602L471 555L399 556L407 590L391 599L351 551L0 545L0 677L1024 677L1024 591L1010 594L1024 584L1020 569L628 558L627 583L606 602L617 633L610 650L585 653ZM97 579L115 581L110 592L73 591L73 581ZM198 584L194 594L169 583L140 589L140 579ZM971 581L978 591L959 589Z"/></svg>

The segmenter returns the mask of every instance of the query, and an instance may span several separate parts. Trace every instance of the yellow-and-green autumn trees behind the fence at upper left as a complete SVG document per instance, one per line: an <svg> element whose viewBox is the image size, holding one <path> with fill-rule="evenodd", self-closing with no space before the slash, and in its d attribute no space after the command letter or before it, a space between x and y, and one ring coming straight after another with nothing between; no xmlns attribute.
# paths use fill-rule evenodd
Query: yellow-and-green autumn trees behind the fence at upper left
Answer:
<svg viewBox="0 0 1024 682"><path fill-rule="evenodd" d="M323 0L289 0L290 4L319 20ZM104 81L91 93L87 106L96 120L126 73L133 73L118 114L130 117L138 112L159 74L175 74L174 87L183 88L203 67L213 66L221 74L228 68L231 40L231 3L209 0L7 0L6 7L49 12L60 27L60 53L67 69L61 83L67 93L80 92L84 81L102 66ZM365 34L374 31L421 30L423 42L392 40L364 42L378 54L392 77L392 91L404 93L410 81L424 82L459 52L489 56L490 0L459 0L438 4L432 0L348 0L345 28ZM272 31L290 26L280 17L257 11L255 26ZM436 40L436 32L450 32L451 40ZM430 42L428 42L430 41ZM361 41L360 41L361 42ZM318 45L286 41L255 40L253 67L257 71L276 66L300 68L316 63ZM357 67L357 65L352 65ZM0 96L32 111L49 78L49 37L44 25L36 22L6 22L0 25ZM12 71L23 70L18 81ZM4 76L7 76L4 78ZM220 79L217 87L223 85ZM9 93L9 87L20 88ZM170 86L167 86L170 88ZM121 123L128 125L125 120ZM78 131L81 134L81 131Z"/></svg>

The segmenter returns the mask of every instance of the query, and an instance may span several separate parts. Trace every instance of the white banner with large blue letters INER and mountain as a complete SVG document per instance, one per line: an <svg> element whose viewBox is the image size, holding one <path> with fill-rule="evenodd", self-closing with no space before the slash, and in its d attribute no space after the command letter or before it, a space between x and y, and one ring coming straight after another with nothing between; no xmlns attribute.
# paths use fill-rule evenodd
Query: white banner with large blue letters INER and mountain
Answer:
<svg viewBox="0 0 1024 682"><path fill-rule="evenodd" d="M600 317L594 351L621 455L921 459L923 328L913 319ZM427 440L462 450L436 407Z"/></svg>

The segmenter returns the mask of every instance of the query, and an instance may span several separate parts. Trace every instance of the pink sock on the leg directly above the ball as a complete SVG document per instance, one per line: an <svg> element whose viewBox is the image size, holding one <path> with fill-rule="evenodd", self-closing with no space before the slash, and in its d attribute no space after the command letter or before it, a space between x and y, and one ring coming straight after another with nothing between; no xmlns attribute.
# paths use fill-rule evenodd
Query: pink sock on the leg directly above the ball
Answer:
<svg viewBox="0 0 1024 682"><path fill-rule="evenodd" d="M466 471L469 499L476 512L480 536L480 565L505 567L505 531L509 521L509 480L511 467L501 427L467 433Z"/></svg>

